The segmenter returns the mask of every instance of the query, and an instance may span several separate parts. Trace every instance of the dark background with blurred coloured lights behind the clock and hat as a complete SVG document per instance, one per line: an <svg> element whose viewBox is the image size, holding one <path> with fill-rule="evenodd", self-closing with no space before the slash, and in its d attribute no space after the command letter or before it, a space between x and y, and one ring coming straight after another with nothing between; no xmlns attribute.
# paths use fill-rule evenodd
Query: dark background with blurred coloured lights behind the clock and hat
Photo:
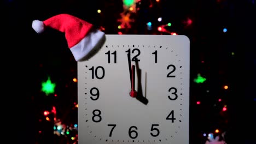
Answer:
<svg viewBox="0 0 256 144"><path fill-rule="evenodd" d="M2 72L10 75L2 76L4 90L14 101L9 119L21 127L9 140L77 142L77 62L63 33L37 34L31 27L33 20L67 13L106 34L187 35L190 143L205 143L211 133L227 143L256 143L254 0L4 0L1 7ZM199 74L206 80L196 82ZM47 80L53 93L42 91Z"/></svg>

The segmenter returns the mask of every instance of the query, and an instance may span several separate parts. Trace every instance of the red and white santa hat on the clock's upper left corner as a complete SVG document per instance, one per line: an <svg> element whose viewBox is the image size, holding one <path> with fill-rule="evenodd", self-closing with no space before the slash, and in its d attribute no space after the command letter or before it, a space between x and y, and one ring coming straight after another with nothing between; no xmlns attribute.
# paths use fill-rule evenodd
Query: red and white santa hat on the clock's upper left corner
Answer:
<svg viewBox="0 0 256 144"><path fill-rule="evenodd" d="M32 22L32 28L37 33L42 33L45 27L65 33L68 48L75 61L82 60L104 37L104 33L93 28L91 23L68 14L56 15L45 21L34 20Z"/></svg>

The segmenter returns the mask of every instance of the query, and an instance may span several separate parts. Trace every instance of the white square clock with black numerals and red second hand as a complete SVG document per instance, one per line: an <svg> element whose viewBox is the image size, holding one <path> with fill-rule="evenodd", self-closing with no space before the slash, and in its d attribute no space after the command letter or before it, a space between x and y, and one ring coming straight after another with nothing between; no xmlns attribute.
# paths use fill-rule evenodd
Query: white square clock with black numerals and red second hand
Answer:
<svg viewBox="0 0 256 144"><path fill-rule="evenodd" d="M184 35L106 35L78 62L79 143L189 143L189 53Z"/></svg>

